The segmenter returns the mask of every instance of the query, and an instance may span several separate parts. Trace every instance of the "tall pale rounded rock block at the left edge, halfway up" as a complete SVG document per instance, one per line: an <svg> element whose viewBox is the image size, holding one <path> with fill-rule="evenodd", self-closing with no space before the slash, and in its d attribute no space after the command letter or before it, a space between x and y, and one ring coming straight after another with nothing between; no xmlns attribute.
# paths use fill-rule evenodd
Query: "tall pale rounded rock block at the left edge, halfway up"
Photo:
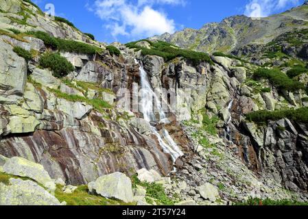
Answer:
<svg viewBox="0 0 308 219"><path fill-rule="evenodd" d="M27 63L2 40L0 48L0 103L17 103L25 90Z"/></svg>

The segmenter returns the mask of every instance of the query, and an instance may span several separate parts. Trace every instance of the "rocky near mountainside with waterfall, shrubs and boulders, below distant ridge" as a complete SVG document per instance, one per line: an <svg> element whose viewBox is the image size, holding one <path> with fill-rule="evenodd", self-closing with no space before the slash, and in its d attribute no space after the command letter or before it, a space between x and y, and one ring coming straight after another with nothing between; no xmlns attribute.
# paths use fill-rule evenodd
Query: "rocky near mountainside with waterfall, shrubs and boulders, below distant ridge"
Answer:
<svg viewBox="0 0 308 219"><path fill-rule="evenodd" d="M307 29L208 55L0 7L0 205L308 201Z"/></svg>

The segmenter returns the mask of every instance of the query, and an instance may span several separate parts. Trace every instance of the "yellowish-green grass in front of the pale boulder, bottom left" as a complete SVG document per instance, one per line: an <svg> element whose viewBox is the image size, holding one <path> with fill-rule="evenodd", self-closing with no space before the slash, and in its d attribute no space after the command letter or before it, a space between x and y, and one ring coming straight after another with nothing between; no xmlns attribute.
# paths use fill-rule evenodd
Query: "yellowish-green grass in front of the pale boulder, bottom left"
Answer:
<svg viewBox="0 0 308 219"><path fill-rule="evenodd" d="M62 186L57 186L55 192L56 198L67 205L136 205L135 203L123 203L122 201L111 200L102 196L88 194L88 186L80 185L73 193L65 194L62 192Z"/></svg>

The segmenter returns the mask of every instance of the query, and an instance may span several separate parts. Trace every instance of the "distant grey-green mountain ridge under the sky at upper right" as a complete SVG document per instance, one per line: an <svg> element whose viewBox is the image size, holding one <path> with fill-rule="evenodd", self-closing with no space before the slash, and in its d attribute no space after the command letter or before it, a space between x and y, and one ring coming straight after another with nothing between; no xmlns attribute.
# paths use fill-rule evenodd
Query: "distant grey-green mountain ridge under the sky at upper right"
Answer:
<svg viewBox="0 0 308 219"><path fill-rule="evenodd" d="M163 34L150 38L164 40L185 49L212 53L230 52L248 44L266 44L277 36L308 27L308 5L305 3L287 12L253 19L231 16L221 23L208 23L201 29L184 29L175 34Z"/></svg>

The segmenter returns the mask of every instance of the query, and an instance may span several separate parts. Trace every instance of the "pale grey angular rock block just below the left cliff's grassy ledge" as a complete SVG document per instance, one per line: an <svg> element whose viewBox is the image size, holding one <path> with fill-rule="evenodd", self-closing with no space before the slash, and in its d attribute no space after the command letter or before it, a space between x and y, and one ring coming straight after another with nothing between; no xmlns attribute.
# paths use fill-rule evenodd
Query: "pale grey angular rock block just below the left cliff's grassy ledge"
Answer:
<svg viewBox="0 0 308 219"><path fill-rule="evenodd" d="M88 115L93 107L81 102L70 102L65 99L58 99L58 110L72 116L73 118L82 119Z"/></svg>

